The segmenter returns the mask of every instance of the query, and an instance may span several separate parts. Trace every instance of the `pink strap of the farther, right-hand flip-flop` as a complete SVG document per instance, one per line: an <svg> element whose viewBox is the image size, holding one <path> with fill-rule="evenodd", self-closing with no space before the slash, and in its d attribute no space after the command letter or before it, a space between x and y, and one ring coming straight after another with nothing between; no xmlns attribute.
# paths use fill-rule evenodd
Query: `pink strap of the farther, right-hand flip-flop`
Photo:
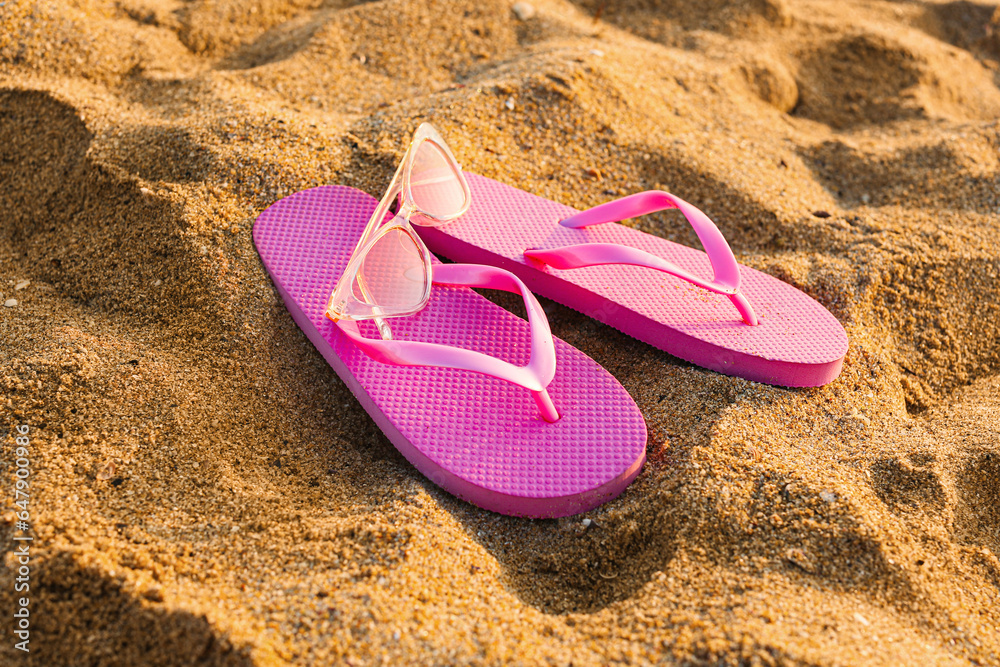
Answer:
<svg viewBox="0 0 1000 667"><path fill-rule="evenodd" d="M526 250L524 254L526 257L539 260L556 269L578 269L600 264L631 264L663 271L710 292L725 294L733 302L743 321L755 326L758 322L757 314L747 298L740 292L739 264L736 262L736 257L726 242L726 238L707 215L683 199L662 190L640 192L581 211L560 220L559 224L578 229L605 222L635 218L671 208L679 209L684 214L701 240L701 244L705 247L705 253L708 255L715 273L711 281L699 278L676 264L644 250L609 243L584 243L548 250Z"/></svg>

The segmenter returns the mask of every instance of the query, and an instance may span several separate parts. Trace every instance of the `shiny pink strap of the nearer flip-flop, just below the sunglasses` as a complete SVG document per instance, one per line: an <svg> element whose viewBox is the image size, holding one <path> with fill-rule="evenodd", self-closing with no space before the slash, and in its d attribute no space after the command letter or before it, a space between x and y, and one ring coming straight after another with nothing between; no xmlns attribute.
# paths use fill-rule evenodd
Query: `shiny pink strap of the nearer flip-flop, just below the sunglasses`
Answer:
<svg viewBox="0 0 1000 667"><path fill-rule="evenodd" d="M449 345L366 338L361 335L358 323L351 320L339 320L337 326L365 354L384 364L456 368L483 373L524 387L531 391L545 421L557 421L559 413L546 391L556 372L552 331L541 305L521 279L509 271L479 264L435 264L432 270L432 282L436 285L520 292L531 328L531 355L527 365L515 366L481 352Z"/></svg>

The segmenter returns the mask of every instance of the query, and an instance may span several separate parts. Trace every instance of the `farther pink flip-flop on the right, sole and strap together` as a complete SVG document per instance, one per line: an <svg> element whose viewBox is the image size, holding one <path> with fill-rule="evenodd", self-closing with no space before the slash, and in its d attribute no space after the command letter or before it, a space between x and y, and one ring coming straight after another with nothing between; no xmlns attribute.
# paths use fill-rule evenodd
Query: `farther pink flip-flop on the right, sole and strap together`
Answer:
<svg viewBox="0 0 1000 667"><path fill-rule="evenodd" d="M840 322L791 285L738 264L691 204L653 191L581 213L465 176L468 211L417 227L432 252L507 269L537 294L720 373L787 387L820 386L840 374L847 354ZM616 224L669 208L680 209L707 254Z"/></svg>

